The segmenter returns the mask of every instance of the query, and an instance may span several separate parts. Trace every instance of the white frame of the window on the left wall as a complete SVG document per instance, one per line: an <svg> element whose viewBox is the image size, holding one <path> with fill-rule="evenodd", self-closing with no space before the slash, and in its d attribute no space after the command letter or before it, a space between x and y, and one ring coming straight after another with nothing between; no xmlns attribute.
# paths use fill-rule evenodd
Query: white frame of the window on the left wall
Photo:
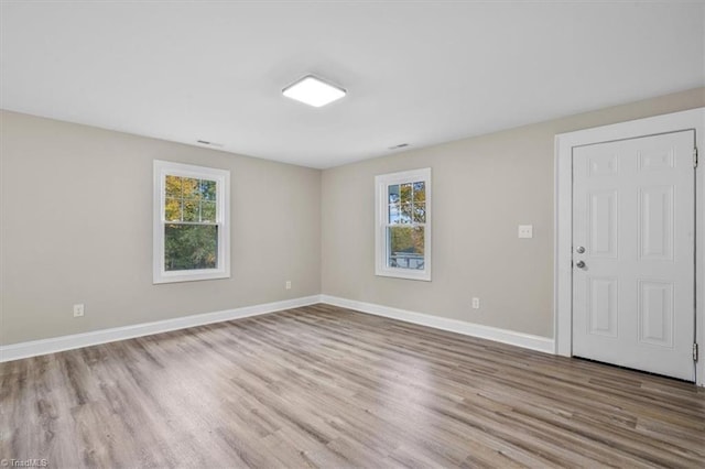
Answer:
<svg viewBox="0 0 705 469"><path fill-rule="evenodd" d="M230 172L206 166L154 160L153 199L153 283L192 282L230 277ZM164 205L166 176L192 177L216 182L216 225L218 261L215 269L166 271L164 269Z"/></svg>

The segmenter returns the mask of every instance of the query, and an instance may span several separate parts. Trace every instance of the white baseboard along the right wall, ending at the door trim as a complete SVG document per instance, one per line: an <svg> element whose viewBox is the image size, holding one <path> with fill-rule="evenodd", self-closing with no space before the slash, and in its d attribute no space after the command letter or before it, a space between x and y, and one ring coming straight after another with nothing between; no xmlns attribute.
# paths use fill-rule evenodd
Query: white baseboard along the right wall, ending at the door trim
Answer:
<svg viewBox="0 0 705 469"><path fill-rule="evenodd" d="M466 323L457 319L431 316L423 313L415 313L405 309L392 308L389 306L376 305L372 303L356 302L354 299L339 298L337 296L321 295L321 303L333 306L355 309L361 313L384 316L405 323L419 324L421 326L433 327L435 329L448 330L451 332L463 334L481 339L495 340L497 342L509 343L525 349L538 350L545 353L555 352L553 339L530 334L516 332L513 330L499 329L479 324Z"/></svg>

